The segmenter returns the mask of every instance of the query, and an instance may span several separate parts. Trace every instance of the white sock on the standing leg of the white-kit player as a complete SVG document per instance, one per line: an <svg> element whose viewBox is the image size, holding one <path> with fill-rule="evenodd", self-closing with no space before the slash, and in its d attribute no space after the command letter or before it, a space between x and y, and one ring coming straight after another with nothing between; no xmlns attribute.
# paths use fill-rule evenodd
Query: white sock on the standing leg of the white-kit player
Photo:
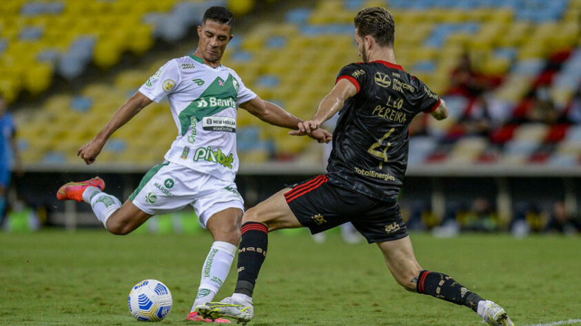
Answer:
<svg viewBox="0 0 581 326"><path fill-rule="evenodd" d="M214 241L212 243L210 252L208 252L202 267L200 287L198 287L198 294L190 310L191 312L196 309L196 305L203 305L212 301L214 296L216 296L216 293L218 293L218 290L220 290L226 280L228 272L230 272L230 266L232 266L235 254L236 246L232 243L223 241Z"/></svg>

